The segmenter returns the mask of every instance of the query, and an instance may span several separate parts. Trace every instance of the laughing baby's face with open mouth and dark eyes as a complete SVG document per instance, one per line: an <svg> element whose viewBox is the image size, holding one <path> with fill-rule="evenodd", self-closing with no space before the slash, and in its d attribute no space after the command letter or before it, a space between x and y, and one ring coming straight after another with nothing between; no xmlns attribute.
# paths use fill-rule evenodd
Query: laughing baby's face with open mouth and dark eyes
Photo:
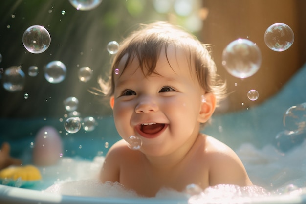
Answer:
<svg viewBox="0 0 306 204"><path fill-rule="evenodd" d="M168 57L168 60L167 60ZM110 100L120 136L137 136L146 155L161 156L184 148L199 132L201 89L194 67L184 51L169 47L161 52L155 71L145 76L137 58L120 74L123 58L114 74ZM169 62L168 62L169 61Z"/></svg>

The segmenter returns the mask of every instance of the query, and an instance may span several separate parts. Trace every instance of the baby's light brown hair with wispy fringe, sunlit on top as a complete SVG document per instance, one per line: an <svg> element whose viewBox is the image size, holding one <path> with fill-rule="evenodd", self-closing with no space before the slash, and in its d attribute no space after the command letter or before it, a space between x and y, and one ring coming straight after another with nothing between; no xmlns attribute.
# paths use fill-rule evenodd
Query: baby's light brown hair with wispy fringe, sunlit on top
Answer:
<svg viewBox="0 0 306 204"><path fill-rule="evenodd" d="M144 74L158 74L155 72L155 66L159 54L164 51L167 56L169 46L181 48L186 52L189 63L194 64L196 68L192 70L192 66L189 66L190 71L196 71L197 80L203 90L216 95L218 105L219 101L225 97L226 84L218 78L217 68L208 47L181 27L160 21L141 25L140 29L131 33L120 43L119 50L112 62L109 80L99 79L101 92L109 97L114 94L114 70L118 68L124 56L127 56L127 60L124 67L119 68L120 74L134 58L139 61L139 68Z"/></svg>

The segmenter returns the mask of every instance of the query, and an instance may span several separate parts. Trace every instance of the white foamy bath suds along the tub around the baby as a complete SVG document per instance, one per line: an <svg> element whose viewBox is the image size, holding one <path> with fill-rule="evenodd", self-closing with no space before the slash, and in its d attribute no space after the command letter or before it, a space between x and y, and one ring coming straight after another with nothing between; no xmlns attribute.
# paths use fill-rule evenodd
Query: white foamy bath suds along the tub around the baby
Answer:
<svg viewBox="0 0 306 204"><path fill-rule="evenodd" d="M156 198L189 198L190 204L222 203L224 199L227 203L245 203L252 198L306 192L303 188L306 186L306 142L286 153L271 145L257 149L252 144L243 144L236 152L255 186L216 185L197 195L161 189ZM100 183L98 175L103 162L102 156L93 161L63 157L57 165L42 167L43 179L49 181L44 192L71 196L138 197L119 183Z"/></svg>

